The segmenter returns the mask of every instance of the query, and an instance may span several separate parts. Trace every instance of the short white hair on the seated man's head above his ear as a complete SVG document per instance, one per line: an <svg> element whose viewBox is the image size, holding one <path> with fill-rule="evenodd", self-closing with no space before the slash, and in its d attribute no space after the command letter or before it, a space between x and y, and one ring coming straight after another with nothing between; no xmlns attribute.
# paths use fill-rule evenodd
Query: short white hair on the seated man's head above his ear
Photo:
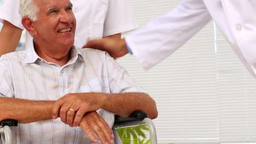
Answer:
<svg viewBox="0 0 256 144"><path fill-rule="evenodd" d="M19 12L21 17L28 16L30 20L37 20L38 6L34 3L35 0L20 0Z"/></svg>

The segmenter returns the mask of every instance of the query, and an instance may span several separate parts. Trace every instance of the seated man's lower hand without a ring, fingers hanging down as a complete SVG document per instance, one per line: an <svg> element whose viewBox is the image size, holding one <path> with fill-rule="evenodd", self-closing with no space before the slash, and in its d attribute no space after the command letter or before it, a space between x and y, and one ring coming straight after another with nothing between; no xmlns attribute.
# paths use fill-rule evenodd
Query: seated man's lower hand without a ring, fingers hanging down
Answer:
<svg viewBox="0 0 256 144"><path fill-rule="evenodd" d="M85 113L79 127L84 129L85 133L94 143L98 142L94 133L98 136L102 143L114 143L113 131L96 111Z"/></svg>

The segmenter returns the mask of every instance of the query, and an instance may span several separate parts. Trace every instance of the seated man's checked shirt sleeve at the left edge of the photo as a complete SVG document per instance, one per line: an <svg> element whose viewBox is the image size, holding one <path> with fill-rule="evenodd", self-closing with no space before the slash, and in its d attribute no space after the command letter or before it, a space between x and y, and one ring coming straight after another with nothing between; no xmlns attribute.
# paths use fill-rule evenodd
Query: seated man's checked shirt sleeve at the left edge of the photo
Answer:
<svg viewBox="0 0 256 144"><path fill-rule="evenodd" d="M4 55L0 58L0 97L14 98L13 79L8 59Z"/></svg>

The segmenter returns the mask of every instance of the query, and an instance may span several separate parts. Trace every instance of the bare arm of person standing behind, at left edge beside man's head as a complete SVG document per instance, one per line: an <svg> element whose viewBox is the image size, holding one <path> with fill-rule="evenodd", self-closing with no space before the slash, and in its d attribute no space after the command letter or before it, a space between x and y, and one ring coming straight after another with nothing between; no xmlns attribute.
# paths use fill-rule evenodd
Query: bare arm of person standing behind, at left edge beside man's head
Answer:
<svg viewBox="0 0 256 144"><path fill-rule="evenodd" d="M0 57L5 53L15 51L19 44L21 33L22 29L8 21L4 21L0 32Z"/></svg>

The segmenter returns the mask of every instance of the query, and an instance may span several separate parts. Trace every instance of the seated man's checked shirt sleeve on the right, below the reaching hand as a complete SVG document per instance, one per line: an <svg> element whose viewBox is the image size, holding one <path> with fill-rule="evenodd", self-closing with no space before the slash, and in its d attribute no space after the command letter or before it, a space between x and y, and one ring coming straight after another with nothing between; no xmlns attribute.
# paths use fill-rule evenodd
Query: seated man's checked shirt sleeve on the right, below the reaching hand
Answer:
<svg viewBox="0 0 256 144"><path fill-rule="evenodd" d="M144 92L142 87L107 52L106 58L110 93Z"/></svg>

